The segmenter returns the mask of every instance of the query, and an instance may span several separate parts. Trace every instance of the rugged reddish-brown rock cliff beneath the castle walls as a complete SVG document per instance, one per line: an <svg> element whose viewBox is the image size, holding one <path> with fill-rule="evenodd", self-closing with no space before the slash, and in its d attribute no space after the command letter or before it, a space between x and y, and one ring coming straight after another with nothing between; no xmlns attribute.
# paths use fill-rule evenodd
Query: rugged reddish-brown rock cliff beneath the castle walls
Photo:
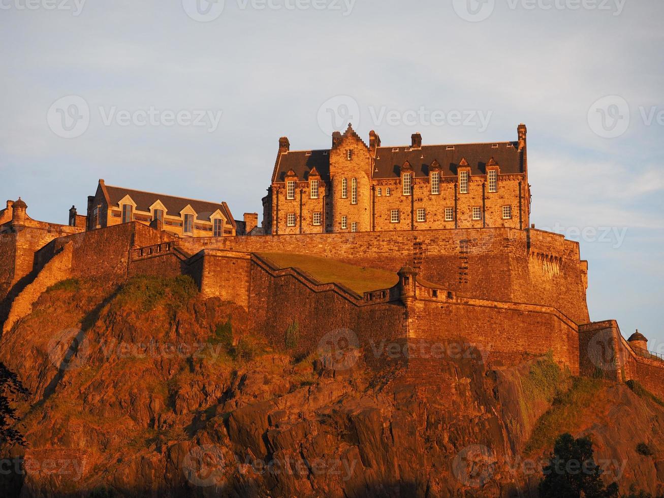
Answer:
<svg viewBox="0 0 664 498"><path fill-rule="evenodd" d="M573 384L546 357L487 371L459 354L421 374L294 360L184 280L59 287L0 342L31 391L16 400L29 447L3 448L9 496L534 497L550 446L529 441ZM608 382L596 399L574 435L623 492L661 494L664 408Z"/></svg>

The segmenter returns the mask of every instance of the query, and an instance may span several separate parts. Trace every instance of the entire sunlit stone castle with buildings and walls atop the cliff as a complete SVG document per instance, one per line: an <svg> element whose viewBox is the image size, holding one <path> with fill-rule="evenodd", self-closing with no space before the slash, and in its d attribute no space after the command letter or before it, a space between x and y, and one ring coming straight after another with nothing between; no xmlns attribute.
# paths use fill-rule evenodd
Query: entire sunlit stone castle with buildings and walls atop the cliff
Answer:
<svg viewBox="0 0 664 498"><path fill-rule="evenodd" d="M3 334L66 278L186 274L205 297L244 307L275 347L297 322L297 352L347 333L380 369L393 362L376 344L412 353L463 341L490 366L550 353L574 374L638 380L664 396L664 361L647 339L590 321L579 244L529 224L526 133L519 125L515 142L434 146L415 134L409 147L380 147L372 132L367 147L349 127L329 151L311 152L291 152L282 138L262 227L255 214L244 226L232 220L224 203L110 192L103 181L88 215L70 212L69 225L33 220L24 201L9 201L0 211ZM191 232L165 223L187 224L188 214ZM362 288L344 280L367 268L382 277ZM396 361L436 378L427 355Z"/></svg>

